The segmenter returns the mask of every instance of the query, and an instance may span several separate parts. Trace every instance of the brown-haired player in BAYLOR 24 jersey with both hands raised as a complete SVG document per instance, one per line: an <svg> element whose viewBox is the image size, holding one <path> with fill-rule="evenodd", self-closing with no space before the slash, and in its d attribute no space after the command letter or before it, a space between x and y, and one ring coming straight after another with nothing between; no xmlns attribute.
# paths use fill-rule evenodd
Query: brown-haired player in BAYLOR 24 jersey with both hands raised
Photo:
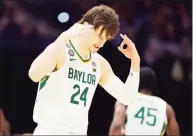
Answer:
<svg viewBox="0 0 193 136"><path fill-rule="evenodd" d="M34 135L86 135L88 111L98 83L125 105L135 101L140 58L134 43L120 35L123 41L119 50L131 59L125 83L113 73L108 61L96 53L118 30L117 13L105 5L95 6L33 61L29 77L39 82ZM123 49L123 45L127 48Z"/></svg>

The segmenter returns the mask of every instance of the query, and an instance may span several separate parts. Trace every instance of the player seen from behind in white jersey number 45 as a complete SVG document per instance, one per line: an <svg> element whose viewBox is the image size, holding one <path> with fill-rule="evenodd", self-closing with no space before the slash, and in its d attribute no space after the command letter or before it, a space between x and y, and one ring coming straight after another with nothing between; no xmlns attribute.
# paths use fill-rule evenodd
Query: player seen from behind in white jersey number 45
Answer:
<svg viewBox="0 0 193 136"><path fill-rule="evenodd" d="M167 135L180 135L172 107L152 96L157 92L156 77L148 67L140 70L139 92L132 106L115 104L109 135L164 135L165 130Z"/></svg>

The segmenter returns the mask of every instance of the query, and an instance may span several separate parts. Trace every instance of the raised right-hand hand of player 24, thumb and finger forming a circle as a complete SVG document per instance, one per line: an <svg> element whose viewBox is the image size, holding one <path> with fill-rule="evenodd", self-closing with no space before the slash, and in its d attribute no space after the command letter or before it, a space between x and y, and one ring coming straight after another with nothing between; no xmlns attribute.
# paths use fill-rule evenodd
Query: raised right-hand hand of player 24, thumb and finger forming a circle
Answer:
<svg viewBox="0 0 193 136"><path fill-rule="evenodd" d="M120 34L123 41L121 42L120 46L118 47L119 51L121 51L127 58L140 61L139 54L137 49L135 48L135 44L124 34ZM126 45L126 48L124 48Z"/></svg>

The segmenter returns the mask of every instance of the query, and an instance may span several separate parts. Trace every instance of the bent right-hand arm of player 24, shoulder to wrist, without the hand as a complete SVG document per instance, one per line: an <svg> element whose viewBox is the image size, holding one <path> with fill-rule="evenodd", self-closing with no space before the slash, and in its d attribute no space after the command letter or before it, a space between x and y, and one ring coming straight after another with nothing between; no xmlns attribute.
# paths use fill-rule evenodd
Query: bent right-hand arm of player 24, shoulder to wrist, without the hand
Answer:
<svg viewBox="0 0 193 136"><path fill-rule="evenodd" d="M110 64L101 57L101 79L100 85L114 98L124 105L134 102L139 88L139 58L132 60L130 74L123 83L112 71Z"/></svg>

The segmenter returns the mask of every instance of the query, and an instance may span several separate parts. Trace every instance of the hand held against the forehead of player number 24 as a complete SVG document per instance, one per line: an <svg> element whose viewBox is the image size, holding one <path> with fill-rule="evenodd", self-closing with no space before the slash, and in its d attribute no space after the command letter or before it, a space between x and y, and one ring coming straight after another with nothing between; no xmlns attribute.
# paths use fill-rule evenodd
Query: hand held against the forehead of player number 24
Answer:
<svg viewBox="0 0 193 136"><path fill-rule="evenodd" d="M89 36L94 31L94 27L87 22L84 24L76 23L70 27L66 33L69 38L77 38L81 36Z"/></svg>

